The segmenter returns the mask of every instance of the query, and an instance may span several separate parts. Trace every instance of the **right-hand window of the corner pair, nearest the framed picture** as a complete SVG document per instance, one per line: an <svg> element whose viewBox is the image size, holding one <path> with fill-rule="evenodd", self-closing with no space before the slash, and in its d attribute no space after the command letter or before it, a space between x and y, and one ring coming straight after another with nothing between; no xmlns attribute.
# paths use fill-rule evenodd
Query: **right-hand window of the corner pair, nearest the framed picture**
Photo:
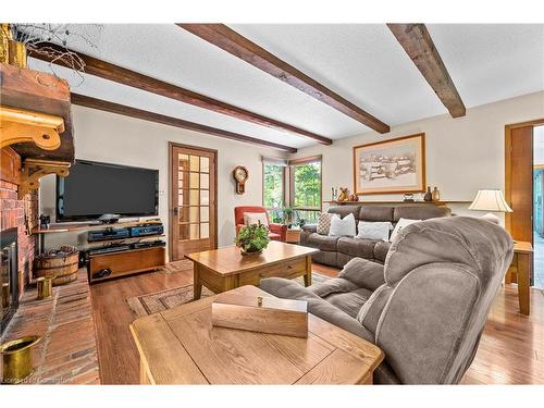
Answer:
<svg viewBox="0 0 544 408"><path fill-rule="evenodd" d="M307 221L321 211L321 156L289 162L290 206Z"/></svg>

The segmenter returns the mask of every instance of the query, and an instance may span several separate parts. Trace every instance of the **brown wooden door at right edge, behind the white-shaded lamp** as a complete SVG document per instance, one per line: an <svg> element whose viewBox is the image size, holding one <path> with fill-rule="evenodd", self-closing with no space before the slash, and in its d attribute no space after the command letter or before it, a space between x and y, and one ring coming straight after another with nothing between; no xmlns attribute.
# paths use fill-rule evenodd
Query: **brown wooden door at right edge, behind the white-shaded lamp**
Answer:
<svg viewBox="0 0 544 408"><path fill-rule="evenodd" d="M516 240L533 242L533 125L506 135L506 200L514 212L506 227Z"/></svg>

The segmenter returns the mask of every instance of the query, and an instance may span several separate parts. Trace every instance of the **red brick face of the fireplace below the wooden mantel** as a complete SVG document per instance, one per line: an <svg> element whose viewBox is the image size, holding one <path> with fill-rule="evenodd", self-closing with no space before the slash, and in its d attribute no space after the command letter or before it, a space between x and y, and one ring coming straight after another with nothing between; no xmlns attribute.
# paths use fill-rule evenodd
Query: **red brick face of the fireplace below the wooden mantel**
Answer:
<svg viewBox="0 0 544 408"><path fill-rule="evenodd" d="M17 242L17 283L18 296L32 279L32 264L36 248L36 236L29 235L38 224L38 194L27 194L22 200L17 198L20 183L21 158L11 148L1 151L0 180L0 234L16 228Z"/></svg>

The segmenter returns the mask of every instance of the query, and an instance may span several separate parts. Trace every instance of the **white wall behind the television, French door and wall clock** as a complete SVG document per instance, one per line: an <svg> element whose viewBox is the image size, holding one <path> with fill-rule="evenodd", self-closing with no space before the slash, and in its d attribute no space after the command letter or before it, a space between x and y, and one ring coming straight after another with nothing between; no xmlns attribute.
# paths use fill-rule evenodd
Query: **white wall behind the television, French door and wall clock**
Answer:
<svg viewBox="0 0 544 408"><path fill-rule="evenodd" d="M261 156L285 157L263 147L242 144L177 127L161 125L94 109L73 107L76 159L87 159L159 170L159 217L168 231L168 143L200 146L218 150L218 244L234 239L234 207L262 203ZM246 194L235 194L232 171L238 165L249 171ZM54 176L41 180L41 213L54 214ZM53 219L53 218L52 218ZM83 236L55 234L47 247L83 242Z"/></svg>

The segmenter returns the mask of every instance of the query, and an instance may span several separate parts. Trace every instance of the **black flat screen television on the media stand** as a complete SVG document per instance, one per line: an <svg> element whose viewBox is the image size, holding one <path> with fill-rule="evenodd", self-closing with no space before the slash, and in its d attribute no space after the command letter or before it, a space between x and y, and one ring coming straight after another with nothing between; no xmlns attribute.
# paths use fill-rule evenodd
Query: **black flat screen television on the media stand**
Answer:
<svg viewBox="0 0 544 408"><path fill-rule="evenodd" d="M159 171L76 160L57 176L57 221L88 221L103 214L157 215Z"/></svg>

